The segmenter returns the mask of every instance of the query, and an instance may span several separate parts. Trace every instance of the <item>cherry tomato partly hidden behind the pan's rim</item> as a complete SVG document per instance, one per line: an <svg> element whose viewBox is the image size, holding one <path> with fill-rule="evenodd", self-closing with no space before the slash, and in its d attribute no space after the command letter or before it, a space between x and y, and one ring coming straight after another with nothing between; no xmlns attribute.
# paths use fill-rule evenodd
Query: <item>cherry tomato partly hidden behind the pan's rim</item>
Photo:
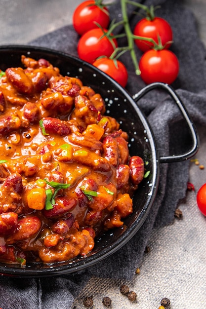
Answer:
<svg viewBox="0 0 206 309"><path fill-rule="evenodd" d="M125 87L128 79L127 70L119 60L100 58L94 61L93 66L114 78L121 86Z"/></svg>

